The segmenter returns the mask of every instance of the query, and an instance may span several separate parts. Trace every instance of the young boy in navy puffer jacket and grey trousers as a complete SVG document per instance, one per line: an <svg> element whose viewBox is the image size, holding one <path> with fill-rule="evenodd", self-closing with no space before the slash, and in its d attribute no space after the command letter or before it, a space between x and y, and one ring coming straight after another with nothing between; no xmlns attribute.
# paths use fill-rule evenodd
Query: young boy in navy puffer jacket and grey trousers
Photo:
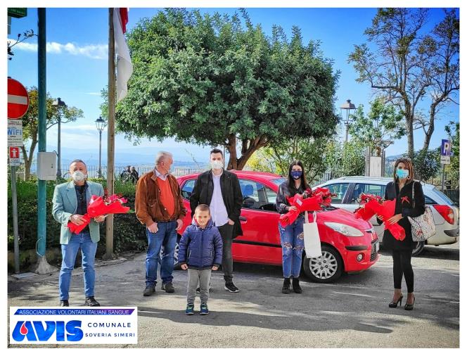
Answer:
<svg viewBox="0 0 467 356"><path fill-rule="evenodd" d="M201 299L200 314L208 314L207 298L209 298L211 271L216 271L222 263L222 237L212 223L209 206L205 204L196 207L193 222L181 235L179 262L181 269L188 269L185 314L194 314L198 283Z"/></svg>

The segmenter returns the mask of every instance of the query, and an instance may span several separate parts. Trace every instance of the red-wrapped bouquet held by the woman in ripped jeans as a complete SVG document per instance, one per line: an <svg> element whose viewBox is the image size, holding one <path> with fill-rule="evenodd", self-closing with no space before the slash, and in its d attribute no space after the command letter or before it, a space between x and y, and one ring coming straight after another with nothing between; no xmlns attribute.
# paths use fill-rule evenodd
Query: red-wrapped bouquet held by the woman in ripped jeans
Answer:
<svg viewBox="0 0 467 356"><path fill-rule="evenodd" d="M316 188L314 191L307 189L303 196L295 194L295 196L287 198L287 201L290 206L295 206L297 210L290 210L287 214L282 215L279 218L279 223L282 227L286 227L297 220L300 212L321 210L322 205L331 204L331 198L335 195L326 188Z"/></svg>

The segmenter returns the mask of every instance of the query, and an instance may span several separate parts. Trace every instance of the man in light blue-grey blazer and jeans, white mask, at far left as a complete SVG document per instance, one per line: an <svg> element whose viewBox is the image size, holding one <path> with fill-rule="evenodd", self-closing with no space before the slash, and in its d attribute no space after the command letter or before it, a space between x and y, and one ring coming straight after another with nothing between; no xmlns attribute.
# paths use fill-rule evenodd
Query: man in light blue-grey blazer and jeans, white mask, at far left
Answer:
<svg viewBox="0 0 467 356"><path fill-rule="evenodd" d="M103 222L105 217L102 215L95 217L79 234L72 234L67 225L68 222L77 225L84 224L83 215L87 213L91 196L103 196L104 189L101 184L87 181L87 168L82 160L73 160L70 163L70 176L71 182L58 184L53 191L52 215L61 224L62 267L58 279L60 307L69 306L68 291L71 284L71 272L75 267L79 248L81 248L84 272L84 304L87 307L98 307L100 304L94 299L94 281L96 280L94 258L100 239L98 222Z"/></svg>

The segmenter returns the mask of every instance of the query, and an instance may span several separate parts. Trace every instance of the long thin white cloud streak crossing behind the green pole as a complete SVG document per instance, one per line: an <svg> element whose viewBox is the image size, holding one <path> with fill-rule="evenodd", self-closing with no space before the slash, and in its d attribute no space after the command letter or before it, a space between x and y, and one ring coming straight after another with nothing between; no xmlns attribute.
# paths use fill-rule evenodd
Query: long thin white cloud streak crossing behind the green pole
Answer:
<svg viewBox="0 0 467 356"><path fill-rule="evenodd" d="M11 44L15 43L14 39L8 39ZM46 49L48 53L68 53L72 56L85 56L94 59L107 59L108 46L107 44L88 44L86 46L79 46L68 42L67 44L60 44L58 42L47 42ZM36 52L37 43L21 42L15 44L13 51L28 51Z"/></svg>

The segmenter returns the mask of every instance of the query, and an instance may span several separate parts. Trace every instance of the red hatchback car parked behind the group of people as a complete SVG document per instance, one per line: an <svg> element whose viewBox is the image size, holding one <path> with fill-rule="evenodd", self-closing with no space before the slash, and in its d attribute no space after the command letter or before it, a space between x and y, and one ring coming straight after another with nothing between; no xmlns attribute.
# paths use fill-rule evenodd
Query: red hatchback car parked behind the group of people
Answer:
<svg viewBox="0 0 467 356"><path fill-rule="evenodd" d="M282 265L282 248L279 237L279 212L276 211L276 194L285 178L271 173L235 171L243 193L240 221L243 236L233 240L234 262ZM188 214L184 227L191 224L189 198L198 174L178 178ZM311 220L310 220L311 221ZM361 272L378 260L378 236L369 222L355 219L351 212L324 208L317 212L321 258L303 256L303 271L312 281L335 281L343 272ZM175 262L178 260L178 245Z"/></svg>

